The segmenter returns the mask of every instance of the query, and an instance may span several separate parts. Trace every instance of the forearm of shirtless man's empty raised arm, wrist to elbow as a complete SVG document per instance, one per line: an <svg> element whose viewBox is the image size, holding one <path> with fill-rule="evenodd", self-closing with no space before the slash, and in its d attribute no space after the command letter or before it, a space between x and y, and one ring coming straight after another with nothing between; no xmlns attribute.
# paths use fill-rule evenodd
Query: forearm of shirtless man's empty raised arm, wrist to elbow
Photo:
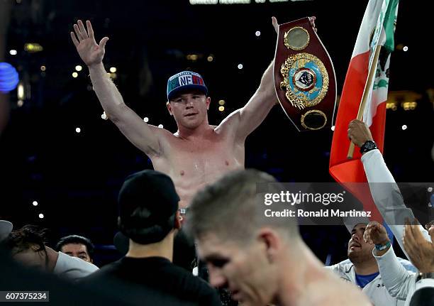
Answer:
<svg viewBox="0 0 434 306"><path fill-rule="evenodd" d="M89 73L96 97L106 115L112 121L116 121L122 106L125 105L121 93L107 75L102 63L89 67Z"/></svg>

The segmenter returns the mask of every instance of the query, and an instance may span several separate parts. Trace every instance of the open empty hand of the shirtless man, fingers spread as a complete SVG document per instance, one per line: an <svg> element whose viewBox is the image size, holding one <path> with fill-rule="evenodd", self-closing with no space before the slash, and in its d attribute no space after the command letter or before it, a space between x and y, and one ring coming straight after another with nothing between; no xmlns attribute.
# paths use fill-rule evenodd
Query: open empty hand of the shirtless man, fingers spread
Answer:
<svg viewBox="0 0 434 306"><path fill-rule="evenodd" d="M77 23L78 24L74 24L75 33L71 32L71 39L75 48L77 48L80 58L82 58L87 66L101 63L104 58L104 53L106 52L106 43L109 38L102 38L99 45L97 45L91 22L86 21L87 31L81 20Z"/></svg>

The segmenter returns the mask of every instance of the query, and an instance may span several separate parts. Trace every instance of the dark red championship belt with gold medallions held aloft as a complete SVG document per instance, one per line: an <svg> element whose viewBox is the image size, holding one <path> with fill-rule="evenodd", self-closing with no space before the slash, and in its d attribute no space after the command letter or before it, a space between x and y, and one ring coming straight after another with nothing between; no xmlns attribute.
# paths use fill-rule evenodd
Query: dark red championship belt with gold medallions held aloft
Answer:
<svg viewBox="0 0 434 306"><path fill-rule="evenodd" d="M279 26L274 87L286 116L299 131L332 125L335 70L307 17Z"/></svg>

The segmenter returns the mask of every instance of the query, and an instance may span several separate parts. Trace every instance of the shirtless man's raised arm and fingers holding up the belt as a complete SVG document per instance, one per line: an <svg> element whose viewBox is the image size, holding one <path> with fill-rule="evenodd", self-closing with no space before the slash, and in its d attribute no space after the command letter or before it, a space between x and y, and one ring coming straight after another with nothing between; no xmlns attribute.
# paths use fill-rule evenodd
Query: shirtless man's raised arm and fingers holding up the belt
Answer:
<svg viewBox="0 0 434 306"><path fill-rule="evenodd" d="M311 25L315 28L315 17L311 17ZM272 24L276 33L279 33L279 24L277 19L272 17ZM244 141L261 123L279 101L274 89L274 60L269 64L262 75L260 86L255 94L241 109L234 111L222 124L233 124L235 129L235 138ZM235 124L234 124L235 123Z"/></svg>

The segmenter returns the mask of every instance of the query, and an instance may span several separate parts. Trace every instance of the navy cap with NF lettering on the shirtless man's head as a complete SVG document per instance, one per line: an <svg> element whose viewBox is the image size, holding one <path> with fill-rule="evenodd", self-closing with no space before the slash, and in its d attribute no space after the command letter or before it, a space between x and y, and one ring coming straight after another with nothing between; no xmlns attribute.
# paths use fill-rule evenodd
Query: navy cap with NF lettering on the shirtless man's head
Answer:
<svg viewBox="0 0 434 306"><path fill-rule="evenodd" d="M204 78L199 73L183 71L167 80L167 100L170 101L176 94L186 89L198 89L205 95L208 94Z"/></svg>

